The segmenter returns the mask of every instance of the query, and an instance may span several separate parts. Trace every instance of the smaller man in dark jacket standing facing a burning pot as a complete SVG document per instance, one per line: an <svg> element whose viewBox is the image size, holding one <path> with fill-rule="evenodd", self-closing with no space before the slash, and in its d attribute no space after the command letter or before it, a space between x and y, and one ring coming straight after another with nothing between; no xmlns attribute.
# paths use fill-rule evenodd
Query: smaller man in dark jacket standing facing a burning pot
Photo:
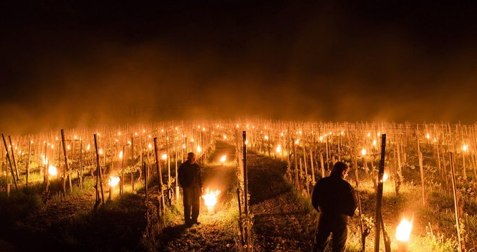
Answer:
<svg viewBox="0 0 477 252"><path fill-rule="evenodd" d="M187 226L199 224L197 217L203 184L200 167L196 164L196 154L187 154L187 161L179 166L178 173L179 184L183 188L184 222Z"/></svg>

